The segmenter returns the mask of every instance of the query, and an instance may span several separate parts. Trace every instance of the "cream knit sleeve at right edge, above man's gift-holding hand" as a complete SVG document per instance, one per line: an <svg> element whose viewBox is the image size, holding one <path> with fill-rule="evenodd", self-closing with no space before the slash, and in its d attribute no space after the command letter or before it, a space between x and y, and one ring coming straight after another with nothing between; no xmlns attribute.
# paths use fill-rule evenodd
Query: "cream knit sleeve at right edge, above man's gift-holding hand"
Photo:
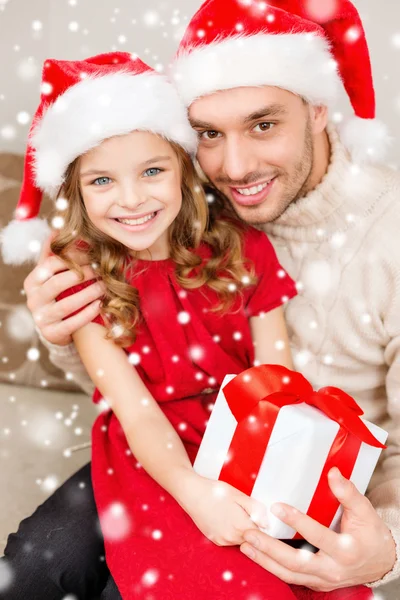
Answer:
<svg viewBox="0 0 400 600"><path fill-rule="evenodd" d="M396 267L393 266L393 269ZM393 569L370 587L380 586L400 577L400 273L397 270L395 288L389 295L384 327L388 337L384 357L388 366L386 395L389 437L387 448L373 479L368 497L379 516L389 527L396 543L397 560Z"/></svg>

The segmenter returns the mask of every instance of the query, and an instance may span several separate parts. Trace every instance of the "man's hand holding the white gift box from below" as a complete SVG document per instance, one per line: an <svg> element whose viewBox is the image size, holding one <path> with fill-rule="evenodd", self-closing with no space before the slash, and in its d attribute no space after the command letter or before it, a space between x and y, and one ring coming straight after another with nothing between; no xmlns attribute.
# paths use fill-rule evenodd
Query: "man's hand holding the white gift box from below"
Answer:
<svg viewBox="0 0 400 600"><path fill-rule="evenodd" d="M296 550L257 530L245 533L241 551L286 583L316 591L381 579L396 561L390 530L369 500L336 468L329 472L329 485L344 509L340 533L286 504L276 504L271 509L281 521L319 548L316 554L306 549Z"/></svg>

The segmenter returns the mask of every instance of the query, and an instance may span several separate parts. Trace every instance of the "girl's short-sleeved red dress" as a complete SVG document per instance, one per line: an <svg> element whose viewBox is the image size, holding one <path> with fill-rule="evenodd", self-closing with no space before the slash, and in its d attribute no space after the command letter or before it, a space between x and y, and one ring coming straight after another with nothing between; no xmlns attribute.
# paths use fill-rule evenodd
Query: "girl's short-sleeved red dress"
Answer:
<svg viewBox="0 0 400 600"><path fill-rule="evenodd" d="M198 252L204 260L210 256L206 246ZM229 314L210 310L218 302L212 290L182 289L170 259L139 260L130 274L139 291L142 323L126 351L192 461L224 376L253 364L249 317L267 313L296 294L264 233L249 228L244 255L253 262L258 283L237 299ZM103 323L100 317L95 321ZM101 400L98 390L93 400ZM238 547L208 541L137 463L112 411L97 418L92 442L93 487L106 560L124 600L372 598L365 587L325 595L288 586Z"/></svg>

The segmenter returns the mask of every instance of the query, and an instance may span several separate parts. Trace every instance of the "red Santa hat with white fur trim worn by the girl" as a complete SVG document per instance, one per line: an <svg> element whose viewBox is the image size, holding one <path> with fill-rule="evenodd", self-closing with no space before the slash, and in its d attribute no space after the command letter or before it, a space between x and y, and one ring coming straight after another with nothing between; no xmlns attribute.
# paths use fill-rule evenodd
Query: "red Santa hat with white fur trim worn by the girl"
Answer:
<svg viewBox="0 0 400 600"><path fill-rule="evenodd" d="M38 218L42 193L55 198L68 166L105 139L143 130L178 143L190 154L197 147L176 89L131 54L47 60L41 90L15 218L1 232L7 264L37 258L50 233L47 222Z"/></svg>

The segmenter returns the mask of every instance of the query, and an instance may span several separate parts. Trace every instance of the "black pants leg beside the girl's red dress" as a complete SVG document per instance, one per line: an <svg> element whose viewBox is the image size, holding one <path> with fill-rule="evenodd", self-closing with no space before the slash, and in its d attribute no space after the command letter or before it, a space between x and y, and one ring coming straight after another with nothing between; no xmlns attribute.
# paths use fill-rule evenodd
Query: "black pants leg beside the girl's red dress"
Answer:
<svg viewBox="0 0 400 600"><path fill-rule="evenodd" d="M0 600L121 600L104 560L90 464L21 522L4 553Z"/></svg>

